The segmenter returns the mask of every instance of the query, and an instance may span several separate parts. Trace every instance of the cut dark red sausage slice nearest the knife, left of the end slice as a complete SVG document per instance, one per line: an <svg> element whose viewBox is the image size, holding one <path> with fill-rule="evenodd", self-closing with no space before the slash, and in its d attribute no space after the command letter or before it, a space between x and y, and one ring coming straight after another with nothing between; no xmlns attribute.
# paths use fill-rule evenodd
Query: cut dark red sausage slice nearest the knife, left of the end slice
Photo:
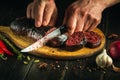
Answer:
<svg viewBox="0 0 120 80"><path fill-rule="evenodd" d="M75 32L65 42L67 50L74 51L83 48L86 44L86 38L83 32Z"/></svg>

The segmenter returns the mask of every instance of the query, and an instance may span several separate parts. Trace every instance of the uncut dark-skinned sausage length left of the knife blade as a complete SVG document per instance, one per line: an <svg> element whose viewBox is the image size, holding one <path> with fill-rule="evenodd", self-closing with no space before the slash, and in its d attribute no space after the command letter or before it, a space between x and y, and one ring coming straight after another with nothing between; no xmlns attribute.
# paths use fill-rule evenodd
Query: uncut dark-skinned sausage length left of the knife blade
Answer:
<svg viewBox="0 0 120 80"><path fill-rule="evenodd" d="M10 29L16 35L28 37L36 41L56 29L56 27L35 27L34 20L23 18L13 21L10 25Z"/></svg>

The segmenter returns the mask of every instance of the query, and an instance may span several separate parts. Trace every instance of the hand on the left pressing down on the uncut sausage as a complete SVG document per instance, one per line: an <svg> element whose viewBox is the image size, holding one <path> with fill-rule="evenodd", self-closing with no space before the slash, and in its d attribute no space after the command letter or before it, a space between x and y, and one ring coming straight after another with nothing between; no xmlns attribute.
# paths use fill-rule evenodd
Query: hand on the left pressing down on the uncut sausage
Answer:
<svg viewBox="0 0 120 80"><path fill-rule="evenodd" d="M57 8L54 0L34 0L27 7L27 18L35 19L35 26L54 26Z"/></svg>

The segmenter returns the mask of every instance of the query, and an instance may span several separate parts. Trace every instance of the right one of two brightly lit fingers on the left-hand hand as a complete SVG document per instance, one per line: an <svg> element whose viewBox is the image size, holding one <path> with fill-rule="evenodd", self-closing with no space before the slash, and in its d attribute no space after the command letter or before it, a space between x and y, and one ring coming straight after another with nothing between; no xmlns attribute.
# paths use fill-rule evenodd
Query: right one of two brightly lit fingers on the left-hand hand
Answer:
<svg viewBox="0 0 120 80"><path fill-rule="evenodd" d="M48 25L53 12L54 12L53 7L50 7L50 6L45 7L44 14L43 14L43 22L42 22L43 26Z"/></svg>

